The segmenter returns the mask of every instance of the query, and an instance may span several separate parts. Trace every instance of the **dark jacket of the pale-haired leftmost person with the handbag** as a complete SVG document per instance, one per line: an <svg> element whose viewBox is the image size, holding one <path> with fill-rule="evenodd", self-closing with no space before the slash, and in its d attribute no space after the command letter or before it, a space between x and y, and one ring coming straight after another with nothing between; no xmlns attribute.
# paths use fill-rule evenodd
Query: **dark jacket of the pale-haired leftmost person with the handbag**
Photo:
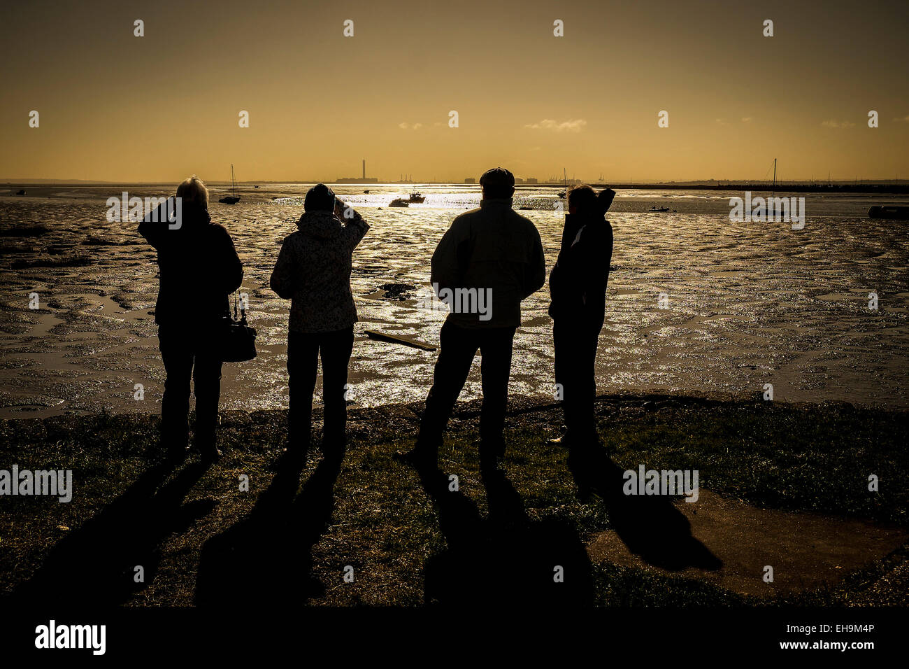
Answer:
<svg viewBox="0 0 909 669"><path fill-rule="evenodd" d="M234 240L195 203L182 203L179 228L170 228L165 211L161 205L139 224L139 234L158 252L155 323L214 324L229 315L227 296L243 282Z"/></svg>

